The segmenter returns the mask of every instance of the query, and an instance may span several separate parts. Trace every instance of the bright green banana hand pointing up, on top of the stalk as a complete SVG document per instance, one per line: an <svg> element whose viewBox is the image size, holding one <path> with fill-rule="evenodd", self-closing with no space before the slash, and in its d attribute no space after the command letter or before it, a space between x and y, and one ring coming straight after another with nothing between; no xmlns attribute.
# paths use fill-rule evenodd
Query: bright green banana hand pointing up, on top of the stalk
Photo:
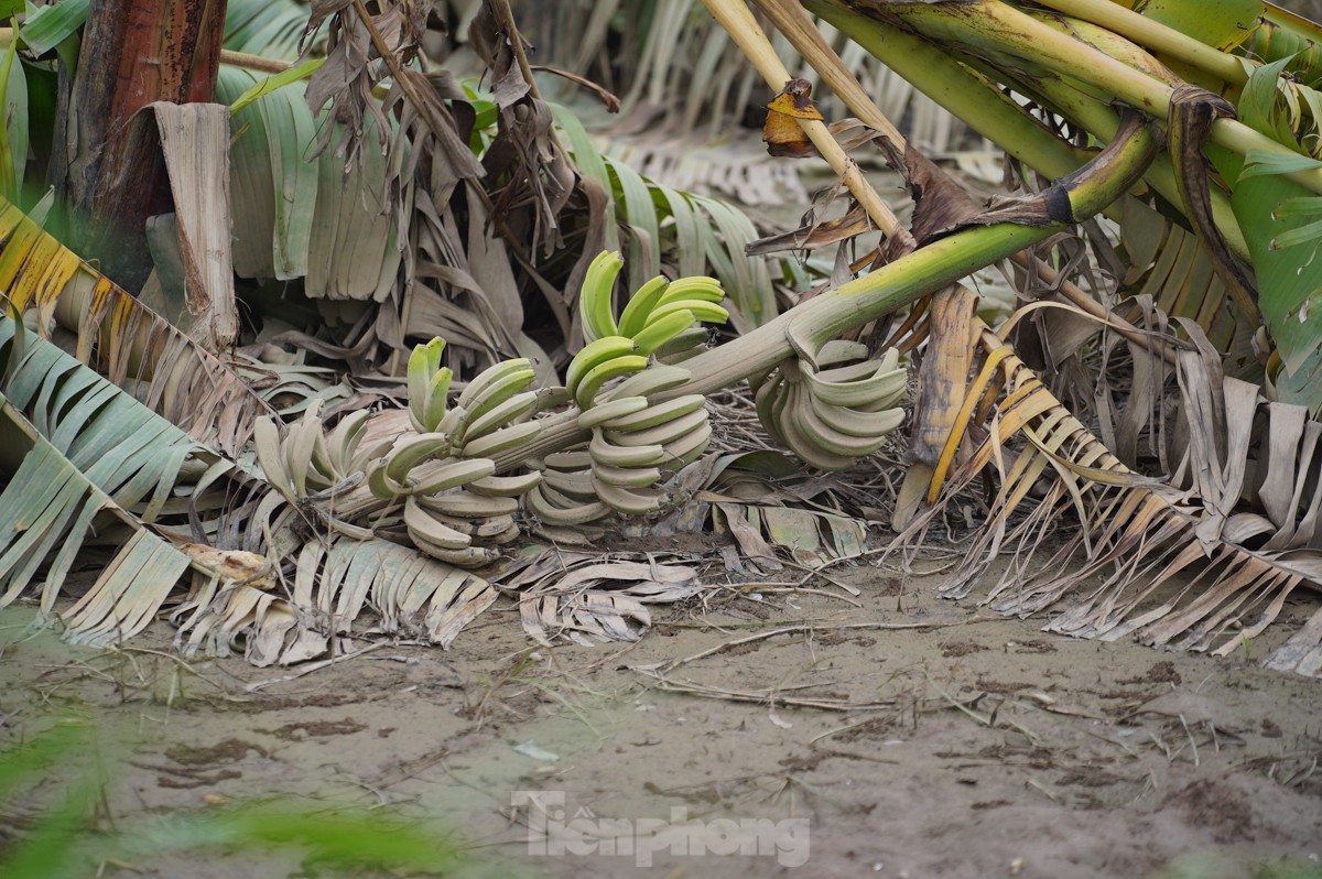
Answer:
<svg viewBox="0 0 1322 879"><path fill-rule="evenodd" d="M711 278L670 282L658 275L629 297L616 321L612 296L623 266L617 251L603 251L583 278L579 320L587 344L564 377L579 408L590 408L608 382L642 371L648 357L658 361L691 357L707 338L701 324L723 324L730 317L720 305L724 299L720 282Z"/></svg>

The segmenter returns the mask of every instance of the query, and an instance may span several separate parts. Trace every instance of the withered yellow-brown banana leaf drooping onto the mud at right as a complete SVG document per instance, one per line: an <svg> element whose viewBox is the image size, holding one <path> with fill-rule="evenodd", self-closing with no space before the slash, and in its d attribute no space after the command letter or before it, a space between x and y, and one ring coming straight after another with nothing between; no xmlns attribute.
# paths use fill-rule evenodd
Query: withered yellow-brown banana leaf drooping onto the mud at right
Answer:
<svg viewBox="0 0 1322 879"><path fill-rule="evenodd" d="M1186 352L1178 363L1191 441L1175 485L1167 486L1134 480L1005 352L998 350L995 366L1006 386L999 411L945 497L989 464L1001 489L964 563L947 578L948 596L968 595L993 559L1003 556L1005 570L984 599L1001 613L1027 616L1063 603L1064 612L1046 629L1225 654L1269 625L1294 588L1322 584L1322 535L1314 527L1322 504L1314 488L1322 426L1307 423L1302 407L1266 404L1247 382L1229 381L1223 389L1207 378L1200 357ZM970 391L970 398L978 394ZM1263 410L1280 460L1251 481L1248 438ZM1214 418L1214 411L1222 415ZM1015 448L1011 440L1021 431L1032 441ZM1099 480L1097 471L1113 477ZM1044 473L1054 478L1034 498ZM1235 504L1245 493L1268 516L1239 512ZM1084 527L1063 542L1048 539L1071 512ZM928 510L894 546L908 545L935 514L936 508ZM1264 535L1270 539L1257 546ZM1297 638L1289 662L1303 670L1314 646L1315 638Z"/></svg>

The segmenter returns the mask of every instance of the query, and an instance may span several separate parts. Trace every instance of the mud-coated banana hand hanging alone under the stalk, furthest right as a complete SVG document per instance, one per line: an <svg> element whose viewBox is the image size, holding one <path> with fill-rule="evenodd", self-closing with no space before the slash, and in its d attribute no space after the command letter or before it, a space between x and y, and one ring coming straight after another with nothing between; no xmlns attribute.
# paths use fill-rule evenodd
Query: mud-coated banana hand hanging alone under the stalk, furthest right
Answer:
<svg viewBox="0 0 1322 879"><path fill-rule="evenodd" d="M834 341L822 346L817 365L788 360L756 387L758 419L805 464L842 471L871 455L904 420L896 403L907 374L899 352L879 361L859 360L867 348ZM838 365L837 363L842 363Z"/></svg>

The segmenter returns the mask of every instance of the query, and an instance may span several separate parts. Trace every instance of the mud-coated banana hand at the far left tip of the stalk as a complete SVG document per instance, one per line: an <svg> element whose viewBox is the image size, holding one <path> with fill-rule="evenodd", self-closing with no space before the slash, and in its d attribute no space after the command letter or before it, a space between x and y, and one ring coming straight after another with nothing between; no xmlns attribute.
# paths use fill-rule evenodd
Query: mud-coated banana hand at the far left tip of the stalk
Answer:
<svg viewBox="0 0 1322 879"><path fill-rule="evenodd" d="M321 418L321 401L313 401L303 418L290 426L283 440L272 419L258 419L254 435L258 464L267 481L291 501L332 488L345 490L360 477L369 460L390 448L390 440L361 448L366 428L368 412L358 410L342 418L328 434Z"/></svg>

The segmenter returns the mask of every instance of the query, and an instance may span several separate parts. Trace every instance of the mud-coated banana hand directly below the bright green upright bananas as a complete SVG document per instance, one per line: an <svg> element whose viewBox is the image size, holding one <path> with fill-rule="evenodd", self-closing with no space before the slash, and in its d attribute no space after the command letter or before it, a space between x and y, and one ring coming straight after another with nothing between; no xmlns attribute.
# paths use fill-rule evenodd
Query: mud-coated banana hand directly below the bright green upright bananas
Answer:
<svg viewBox="0 0 1322 879"><path fill-rule="evenodd" d="M624 379L604 402L579 414L579 427L592 432L587 445L592 492L617 513L658 510L669 496L657 484L711 443L706 398L653 399L687 381L689 370L656 365Z"/></svg>

